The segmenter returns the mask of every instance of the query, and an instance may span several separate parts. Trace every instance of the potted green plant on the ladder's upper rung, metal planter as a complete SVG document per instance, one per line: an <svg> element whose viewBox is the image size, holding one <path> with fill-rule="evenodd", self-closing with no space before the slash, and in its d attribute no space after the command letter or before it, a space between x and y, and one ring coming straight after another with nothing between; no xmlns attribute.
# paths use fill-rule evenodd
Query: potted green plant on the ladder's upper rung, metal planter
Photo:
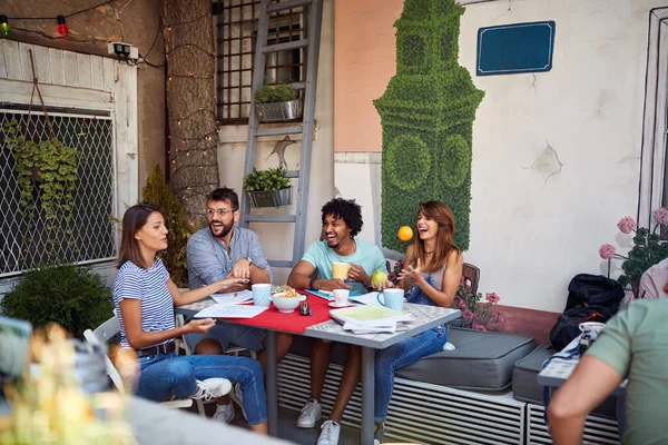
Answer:
<svg viewBox="0 0 668 445"><path fill-rule="evenodd" d="M302 117L302 100L291 85L263 85L255 91L255 110L261 122L298 119Z"/></svg>

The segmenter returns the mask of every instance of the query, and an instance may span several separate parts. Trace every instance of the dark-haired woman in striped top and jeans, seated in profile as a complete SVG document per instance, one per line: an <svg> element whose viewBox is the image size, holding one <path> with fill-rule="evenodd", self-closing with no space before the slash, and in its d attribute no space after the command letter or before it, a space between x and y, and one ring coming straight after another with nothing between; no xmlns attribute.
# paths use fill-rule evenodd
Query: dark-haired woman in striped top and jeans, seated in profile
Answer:
<svg viewBox="0 0 668 445"><path fill-rule="evenodd" d="M136 393L155 402L171 397L218 398L239 383L250 429L267 434L267 413L262 367L247 357L226 355L176 356L174 338L206 333L215 322L194 319L175 327L174 307L195 303L246 278L225 278L189 291L179 291L160 258L167 248L167 227L160 211L138 204L126 210L114 285L114 303L120 323L120 345L135 349L139 376Z"/></svg>

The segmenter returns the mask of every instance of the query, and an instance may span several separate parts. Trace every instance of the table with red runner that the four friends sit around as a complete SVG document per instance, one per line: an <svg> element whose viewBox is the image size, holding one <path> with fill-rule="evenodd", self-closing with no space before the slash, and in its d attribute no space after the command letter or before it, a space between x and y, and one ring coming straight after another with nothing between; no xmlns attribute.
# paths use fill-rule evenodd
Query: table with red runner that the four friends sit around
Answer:
<svg viewBox="0 0 668 445"><path fill-rule="evenodd" d="M303 335L357 345L362 347L362 441L363 445L373 444L373 399L374 399L374 360L375 349L383 349L406 338L411 338L432 327L442 325L460 317L459 309L438 306L404 304L404 312L410 312L415 317L414 322L406 323L406 330L394 334L363 334L356 335L343 330L343 326L330 318L328 300L308 295L308 305L313 315L299 315L296 309L292 314L281 314L274 307L253 318L219 318L219 322L254 326L266 330L266 392L267 416L271 435L276 435L278 429L278 400L277 400L277 364L276 364L276 332ZM214 304L212 298L205 298L190 305L180 306L176 312L187 317L194 316L199 310Z"/></svg>

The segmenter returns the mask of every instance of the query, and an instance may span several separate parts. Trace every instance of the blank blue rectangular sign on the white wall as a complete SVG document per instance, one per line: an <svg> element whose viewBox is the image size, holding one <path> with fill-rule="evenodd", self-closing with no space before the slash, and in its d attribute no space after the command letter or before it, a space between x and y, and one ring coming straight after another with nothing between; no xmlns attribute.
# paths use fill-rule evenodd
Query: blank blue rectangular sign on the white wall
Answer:
<svg viewBox="0 0 668 445"><path fill-rule="evenodd" d="M478 30L478 76L552 69L554 22L503 24Z"/></svg>

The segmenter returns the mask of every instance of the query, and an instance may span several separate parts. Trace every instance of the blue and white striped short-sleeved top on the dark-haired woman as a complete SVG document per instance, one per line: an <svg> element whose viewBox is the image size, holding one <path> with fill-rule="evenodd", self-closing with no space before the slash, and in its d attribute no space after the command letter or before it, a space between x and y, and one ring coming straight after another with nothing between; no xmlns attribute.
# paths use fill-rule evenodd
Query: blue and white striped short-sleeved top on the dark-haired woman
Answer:
<svg viewBox="0 0 668 445"><path fill-rule="evenodd" d="M120 323L121 346L130 346L120 313L120 301L125 298L141 300L141 329L144 332L174 329L174 299L167 288L168 278L169 273L160 258L156 258L153 267L148 269L144 269L132 261L126 261L120 266L116 274L116 283L114 283L114 304Z"/></svg>

